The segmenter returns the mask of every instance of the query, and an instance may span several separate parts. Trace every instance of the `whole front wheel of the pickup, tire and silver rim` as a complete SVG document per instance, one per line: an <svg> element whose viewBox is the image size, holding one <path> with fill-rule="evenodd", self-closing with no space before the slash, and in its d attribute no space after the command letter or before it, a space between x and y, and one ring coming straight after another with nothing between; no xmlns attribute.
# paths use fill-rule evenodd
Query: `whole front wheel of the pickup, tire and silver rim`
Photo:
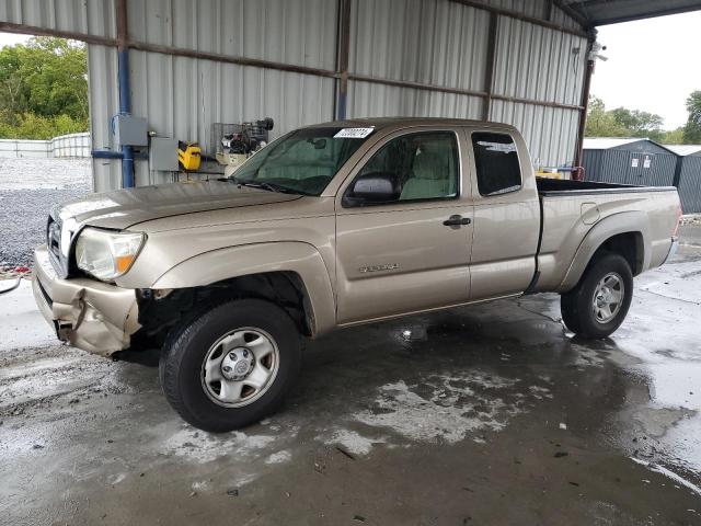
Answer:
<svg viewBox="0 0 701 526"><path fill-rule="evenodd" d="M185 421L225 432L274 412L300 363L299 334L287 312L241 299L176 329L163 346L159 371L165 398Z"/></svg>

